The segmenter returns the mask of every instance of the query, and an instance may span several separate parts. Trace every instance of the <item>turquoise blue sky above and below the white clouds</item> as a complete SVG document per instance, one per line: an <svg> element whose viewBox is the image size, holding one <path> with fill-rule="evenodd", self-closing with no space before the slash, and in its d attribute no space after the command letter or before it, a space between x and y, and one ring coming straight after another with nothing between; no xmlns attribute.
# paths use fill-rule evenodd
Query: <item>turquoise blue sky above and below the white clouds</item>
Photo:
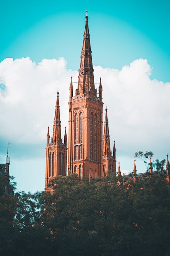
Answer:
<svg viewBox="0 0 170 256"><path fill-rule="evenodd" d="M170 2L165 0L1 1L0 61L5 58L29 56L32 61L38 63L42 59L63 57L67 61L67 70L78 70L86 9L89 12L91 49L95 66L121 70L124 65L130 65L136 59L147 59L152 68L150 79L170 82ZM22 123L27 123L27 116L24 118ZM51 126L52 121L53 118ZM17 125L20 124L12 124ZM48 125L50 124L47 122ZM45 140L33 143L24 140L17 142L17 139L13 139L14 132L15 130L11 129L8 136L4 135L3 131L0 133L0 161L4 162L9 140L11 161L13 159L10 168L16 176L19 189L41 190L44 188ZM137 150L141 148L136 148ZM163 147L160 153L155 143L152 148L143 150L157 152L160 158L167 153L163 152ZM125 166L128 161L127 151L121 149L119 152ZM132 152L132 158L133 154ZM22 172L22 169L26 171ZM38 186L33 176L38 178ZM33 180L34 184L29 187L28 184Z"/></svg>

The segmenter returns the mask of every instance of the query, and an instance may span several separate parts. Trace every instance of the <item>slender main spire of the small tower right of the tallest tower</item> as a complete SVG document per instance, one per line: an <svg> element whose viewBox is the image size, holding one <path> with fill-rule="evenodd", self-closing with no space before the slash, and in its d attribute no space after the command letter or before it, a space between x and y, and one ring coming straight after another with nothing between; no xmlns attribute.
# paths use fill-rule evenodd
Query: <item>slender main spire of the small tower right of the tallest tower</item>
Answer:
<svg viewBox="0 0 170 256"><path fill-rule="evenodd" d="M111 157L111 146L110 146L110 136L108 130L108 118L107 109L105 109L105 121L104 121L104 133L103 133L103 156L106 158Z"/></svg>

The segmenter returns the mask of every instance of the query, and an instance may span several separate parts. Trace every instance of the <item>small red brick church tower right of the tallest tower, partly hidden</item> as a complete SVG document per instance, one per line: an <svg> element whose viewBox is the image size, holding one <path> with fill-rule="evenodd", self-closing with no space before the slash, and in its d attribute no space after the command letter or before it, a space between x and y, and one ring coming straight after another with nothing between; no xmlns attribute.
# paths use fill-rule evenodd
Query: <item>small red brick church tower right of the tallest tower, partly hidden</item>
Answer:
<svg viewBox="0 0 170 256"><path fill-rule="evenodd" d="M107 109L105 109L104 134L103 134L103 176L108 173L116 175L116 148L114 141L113 156L110 146L110 136L108 129Z"/></svg>

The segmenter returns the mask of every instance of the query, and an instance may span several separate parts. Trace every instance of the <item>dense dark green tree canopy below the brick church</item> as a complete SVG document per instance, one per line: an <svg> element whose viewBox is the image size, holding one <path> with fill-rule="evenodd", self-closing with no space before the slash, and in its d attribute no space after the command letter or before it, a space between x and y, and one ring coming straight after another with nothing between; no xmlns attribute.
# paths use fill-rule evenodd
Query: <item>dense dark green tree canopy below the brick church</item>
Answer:
<svg viewBox="0 0 170 256"><path fill-rule="evenodd" d="M0 196L1 255L170 255L163 175L126 176L125 183L112 174L90 183L58 176L50 186L53 195Z"/></svg>

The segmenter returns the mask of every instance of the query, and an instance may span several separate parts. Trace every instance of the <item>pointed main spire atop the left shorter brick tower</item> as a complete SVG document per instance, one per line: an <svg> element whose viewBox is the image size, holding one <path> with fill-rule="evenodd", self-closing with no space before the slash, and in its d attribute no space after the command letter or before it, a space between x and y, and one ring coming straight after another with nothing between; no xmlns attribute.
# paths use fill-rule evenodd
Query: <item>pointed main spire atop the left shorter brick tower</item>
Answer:
<svg viewBox="0 0 170 256"><path fill-rule="evenodd" d="M61 139L61 121L60 121L60 105L59 105L59 93L57 91L57 100L55 105L55 116L54 116L54 125L53 125L53 137L51 142L56 144L62 143Z"/></svg>

